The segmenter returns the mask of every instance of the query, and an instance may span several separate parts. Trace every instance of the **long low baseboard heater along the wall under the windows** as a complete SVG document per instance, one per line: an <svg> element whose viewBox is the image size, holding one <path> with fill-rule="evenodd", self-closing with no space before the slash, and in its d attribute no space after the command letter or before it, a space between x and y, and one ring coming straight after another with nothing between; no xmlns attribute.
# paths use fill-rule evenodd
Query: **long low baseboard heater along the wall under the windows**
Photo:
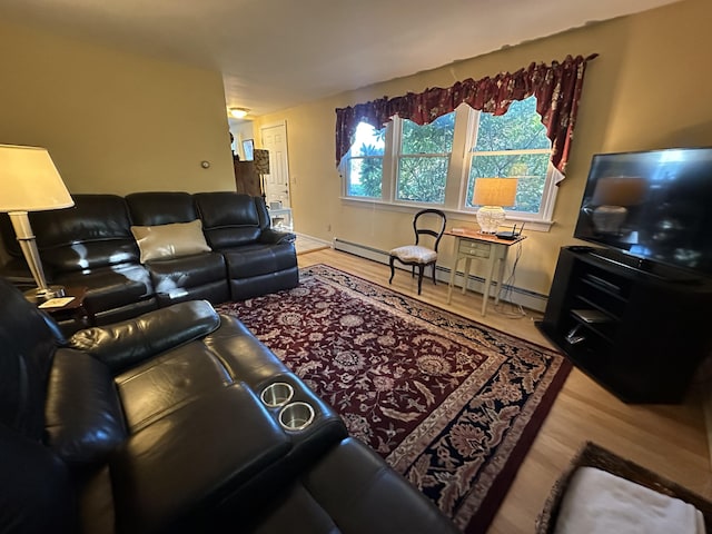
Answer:
<svg viewBox="0 0 712 534"><path fill-rule="evenodd" d="M358 256L360 258L366 258L373 261L377 261L379 264L388 265L388 253L385 250L379 250L377 248L368 247L366 245L360 245L358 243L345 241L343 239L339 239L338 237L334 238L333 246L335 250L340 250L342 253L353 254L354 256ZM409 271L409 268L406 268L405 266L399 266L397 263L396 263L396 267L400 270ZM449 268L438 265L437 268L435 269L435 279L437 281L448 284L449 274L451 274ZM455 275L455 285L457 286L457 290L459 290L459 288L463 287L463 276L464 275L459 271L457 271L457 274ZM485 283L484 278L479 276L469 275L467 277L467 289L472 289L473 291L477 291L477 293L483 293L484 283ZM513 303L513 304L518 304L521 306L524 306L525 308L534 309L537 312L544 312L544 309L546 308L545 295L530 291L527 289L522 289L516 286L506 286L506 290L502 293L501 299Z"/></svg>

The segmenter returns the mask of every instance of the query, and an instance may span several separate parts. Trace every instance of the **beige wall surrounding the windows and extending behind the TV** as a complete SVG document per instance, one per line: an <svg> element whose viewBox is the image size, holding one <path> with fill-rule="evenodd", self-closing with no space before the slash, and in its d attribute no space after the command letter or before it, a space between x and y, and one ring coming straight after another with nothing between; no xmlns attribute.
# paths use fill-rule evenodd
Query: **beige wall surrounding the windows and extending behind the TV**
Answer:
<svg viewBox="0 0 712 534"><path fill-rule="evenodd" d="M335 108L384 95L448 87L469 77L514 71L532 61L597 52L600 57L586 71L555 225L550 233L527 233L517 266L516 286L548 294L558 248L575 243L573 227L593 154L712 145L712 71L708 68L711 17L709 0L684 0L261 117L263 122L287 121L296 230L380 250L412 239L413 211L354 206L339 199L334 164ZM423 38L437 46L443 37L424 32ZM472 217L451 219L457 226L474 225ZM443 241L443 265L451 265L452 247L448 239Z"/></svg>

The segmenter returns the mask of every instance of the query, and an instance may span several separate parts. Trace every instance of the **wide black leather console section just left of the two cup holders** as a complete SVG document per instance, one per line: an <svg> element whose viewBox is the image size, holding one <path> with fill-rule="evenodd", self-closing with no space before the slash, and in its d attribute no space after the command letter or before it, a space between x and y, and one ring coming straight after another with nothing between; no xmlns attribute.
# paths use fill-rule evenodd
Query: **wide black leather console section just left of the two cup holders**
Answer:
<svg viewBox="0 0 712 534"><path fill-rule="evenodd" d="M234 495L239 502L255 494L260 473L289 448L249 388L233 384L199 396L130 436L112 456L118 532L230 532L212 526L214 511ZM239 523L230 526L245 532Z"/></svg>

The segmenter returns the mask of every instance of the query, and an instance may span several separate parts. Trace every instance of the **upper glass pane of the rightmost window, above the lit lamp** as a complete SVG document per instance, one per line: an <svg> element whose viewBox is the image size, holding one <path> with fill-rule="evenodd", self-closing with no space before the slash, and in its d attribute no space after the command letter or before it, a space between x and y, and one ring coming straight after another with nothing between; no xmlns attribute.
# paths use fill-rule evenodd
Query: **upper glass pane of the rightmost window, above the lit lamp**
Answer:
<svg viewBox="0 0 712 534"><path fill-rule="evenodd" d="M536 112L536 98L512 102L505 115L479 113L473 151L551 149L546 128Z"/></svg>

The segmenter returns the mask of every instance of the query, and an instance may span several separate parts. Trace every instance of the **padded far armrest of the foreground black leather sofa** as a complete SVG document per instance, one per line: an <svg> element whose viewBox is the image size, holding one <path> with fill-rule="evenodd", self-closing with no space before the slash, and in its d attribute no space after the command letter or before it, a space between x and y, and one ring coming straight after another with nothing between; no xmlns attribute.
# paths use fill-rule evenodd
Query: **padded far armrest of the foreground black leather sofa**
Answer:
<svg viewBox="0 0 712 534"><path fill-rule="evenodd" d="M220 326L207 300L188 300L113 325L76 333L69 347L83 350L109 366L113 374L164 350L206 336Z"/></svg>

